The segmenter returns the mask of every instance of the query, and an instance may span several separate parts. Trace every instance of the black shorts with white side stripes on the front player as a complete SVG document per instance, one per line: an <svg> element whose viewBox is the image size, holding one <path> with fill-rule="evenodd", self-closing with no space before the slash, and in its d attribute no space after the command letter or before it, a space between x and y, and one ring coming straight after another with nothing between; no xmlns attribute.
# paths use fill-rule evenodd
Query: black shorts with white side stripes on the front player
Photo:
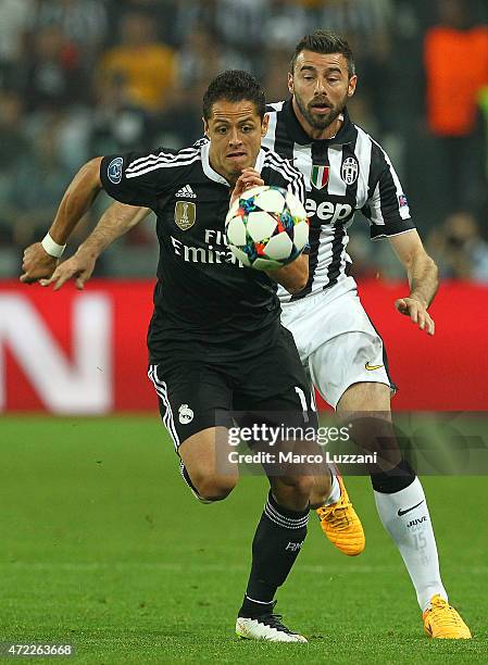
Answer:
<svg viewBox="0 0 488 665"><path fill-rule="evenodd" d="M149 366L160 413L175 449L192 435L234 422L249 425L316 427L316 412L300 357L289 330L279 326L275 343L238 363L209 364L172 355ZM279 423L278 423L279 421Z"/></svg>

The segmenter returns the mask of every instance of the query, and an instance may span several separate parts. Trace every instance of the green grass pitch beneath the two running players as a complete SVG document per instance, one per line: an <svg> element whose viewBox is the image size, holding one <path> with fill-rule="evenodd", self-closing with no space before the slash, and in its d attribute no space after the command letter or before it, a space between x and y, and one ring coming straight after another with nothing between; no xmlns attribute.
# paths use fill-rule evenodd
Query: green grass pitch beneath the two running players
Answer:
<svg viewBox="0 0 488 665"><path fill-rule="evenodd" d="M200 505L155 415L3 417L0 641L71 642L67 662L110 665L486 663L486 478L424 479L443 580L475 635L462 642L424 637L368 479L347 485L366 551L341 555L312 518L278 593L277 612L310 643L239 641L234 625L264 479L247 476L226 501Z"/></svg>

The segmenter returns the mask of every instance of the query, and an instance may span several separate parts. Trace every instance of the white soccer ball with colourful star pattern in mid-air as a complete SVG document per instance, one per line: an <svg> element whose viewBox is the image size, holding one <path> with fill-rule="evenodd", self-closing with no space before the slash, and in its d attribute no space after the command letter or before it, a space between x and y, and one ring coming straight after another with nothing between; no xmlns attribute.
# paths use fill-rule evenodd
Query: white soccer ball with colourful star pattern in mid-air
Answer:
<svg viewBox="0 0 488 665"><path fill-rule="evenodd" d="M280 187L252 187L234 202L225 219L234 256L256 271L295 261L309 242L309 219L299 199Z"/></svg>

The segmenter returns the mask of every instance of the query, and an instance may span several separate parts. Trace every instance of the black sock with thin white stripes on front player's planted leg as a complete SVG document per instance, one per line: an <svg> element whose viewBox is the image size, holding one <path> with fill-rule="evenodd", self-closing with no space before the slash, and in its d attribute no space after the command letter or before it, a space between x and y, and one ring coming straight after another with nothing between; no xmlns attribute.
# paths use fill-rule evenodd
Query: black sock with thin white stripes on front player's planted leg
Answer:
<svg viewBox="0 0 488 665"><path fill-rule="evenodd" d="M239 616L266 614L306 536L310 509L289 511L270 492L252 541L252 567Z"/></svg>

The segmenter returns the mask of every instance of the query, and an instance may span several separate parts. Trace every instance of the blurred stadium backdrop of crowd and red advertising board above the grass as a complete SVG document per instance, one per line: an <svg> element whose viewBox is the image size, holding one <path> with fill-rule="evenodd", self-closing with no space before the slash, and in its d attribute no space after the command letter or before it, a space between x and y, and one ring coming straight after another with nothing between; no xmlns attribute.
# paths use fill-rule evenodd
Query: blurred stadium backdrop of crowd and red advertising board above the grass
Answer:
<svg viewBox="0 0 488 665"><path fill-rule="evenodd" d="M404 284L402 268L388 242L370 242L358 216L353 269L389 347L401 387L395 406L488 410L485 0L1 0L0 410L153 409L143 339L154 219L102 255L95 276L103 281L84 296L67 288L52 299L18 285L22 250L43 237L89 158L198 139L201 97L218 71L251 70L270 101L286 97L293 45L318 26L353 45L360 85L351 115L388 150L442 278L454 280L434 305L438 335L429 343L401 325L391 283ZM108 203L99 198L66 255ZM445 380L448 369L470 386L463 396Z"/></svg>

